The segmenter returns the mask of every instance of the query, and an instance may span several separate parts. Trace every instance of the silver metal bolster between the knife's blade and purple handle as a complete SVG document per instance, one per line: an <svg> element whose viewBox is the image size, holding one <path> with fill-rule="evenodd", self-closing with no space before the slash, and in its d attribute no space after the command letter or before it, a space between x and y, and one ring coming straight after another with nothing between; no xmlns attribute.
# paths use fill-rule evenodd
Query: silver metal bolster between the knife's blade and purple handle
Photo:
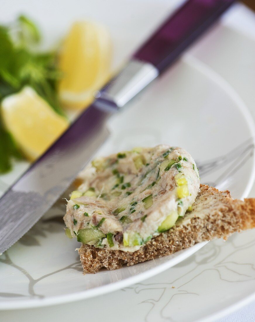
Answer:
<svg viewBox="0 0 255 322"><path fill-rule="evenodd" d="M96 92L94 105L102 109L119 109L158 75L159 71L154 65L132 59L103 90Z"/></svg>

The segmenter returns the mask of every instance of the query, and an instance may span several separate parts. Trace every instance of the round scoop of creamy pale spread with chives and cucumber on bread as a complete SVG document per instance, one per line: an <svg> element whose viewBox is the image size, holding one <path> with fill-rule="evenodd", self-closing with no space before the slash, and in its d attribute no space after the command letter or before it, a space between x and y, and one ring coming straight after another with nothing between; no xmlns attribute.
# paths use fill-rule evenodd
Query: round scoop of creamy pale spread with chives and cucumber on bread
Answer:
<svg viewBox="0 0 255 322"><path fill-rule="evenodd" d="M136 251L169 230L190 209L200 185L190 154L167 145L97 158L83 180L67 204L67 235L123 251Z"/></svg>

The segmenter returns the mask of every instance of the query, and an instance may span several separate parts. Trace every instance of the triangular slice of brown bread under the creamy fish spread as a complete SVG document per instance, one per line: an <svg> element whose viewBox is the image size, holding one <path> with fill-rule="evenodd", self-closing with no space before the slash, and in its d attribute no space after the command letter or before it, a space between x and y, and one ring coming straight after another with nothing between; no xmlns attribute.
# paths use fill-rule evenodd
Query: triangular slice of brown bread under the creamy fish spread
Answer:
<svg viewBox="0 0 255 322"><path fill-rule="evenodd" d="M201 185L200 190L192 212L187 213L183 223L161 233L138 251L105 250L82 244L78 252L84 273L96 273L102 267L114 270L124 264L134 265L171 255L198 242L227 239L233 232L255 227L255 198L233 200L228 191L207 185Z"/></svg>

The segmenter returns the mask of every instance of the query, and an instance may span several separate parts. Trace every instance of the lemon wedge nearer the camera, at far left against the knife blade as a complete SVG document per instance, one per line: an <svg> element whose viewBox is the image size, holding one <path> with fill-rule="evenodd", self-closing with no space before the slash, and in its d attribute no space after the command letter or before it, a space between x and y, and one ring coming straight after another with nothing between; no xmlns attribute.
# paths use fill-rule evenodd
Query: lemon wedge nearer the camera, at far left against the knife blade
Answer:
<svg viewBox="0 0 255 322"><path fill-rule="evenodd" d="M58 115L31 87L3 99L1 116L17 145L32 161L68 127L67 119Z"/></svg>

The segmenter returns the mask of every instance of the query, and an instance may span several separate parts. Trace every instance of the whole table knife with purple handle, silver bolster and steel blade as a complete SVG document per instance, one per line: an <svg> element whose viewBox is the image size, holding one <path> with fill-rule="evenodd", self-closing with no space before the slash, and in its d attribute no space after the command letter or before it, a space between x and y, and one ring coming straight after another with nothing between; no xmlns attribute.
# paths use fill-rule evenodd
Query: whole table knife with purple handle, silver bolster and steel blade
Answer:
<svg viewBox="0 0 255 322"><path fill-rule="evenodd" d="M0 253L68 188L109 136L107 119L170 66L234 0L189 0L134 53L68 130L0 199Z"/></svg>

